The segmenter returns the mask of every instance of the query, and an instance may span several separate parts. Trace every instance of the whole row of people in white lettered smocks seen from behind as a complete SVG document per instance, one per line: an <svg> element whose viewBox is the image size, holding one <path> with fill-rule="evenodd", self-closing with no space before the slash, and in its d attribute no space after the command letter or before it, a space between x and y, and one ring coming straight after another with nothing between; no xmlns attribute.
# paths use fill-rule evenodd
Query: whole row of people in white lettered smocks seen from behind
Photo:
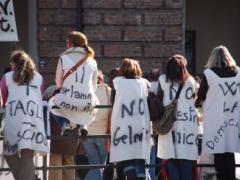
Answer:
<svg viewBox="0 0 240 180"><path fill-rule="evenodd" d="M194 164L199 158L200 107L204 121L202 151L214 155L218 179L235 179L234 152L240 151L240 71L226 47L212 50L200 85L188 72L186 58L173 55L155 82L143 78L137 60L125 58L108 86L83 33L69 33L66 46L57 65L57 91L48 98L50 117L61 127L62 134L86 126L89 134L111 133L110 150L104 138L82 142L90 164L105 163L109 153L109 162L116 163L128 180L147 179L145 164L150 163L154 133L148 92L161 88L166 106L181 87L176 121L170 132L158 135L157 140L157 157L167 160L168 179L193 179ZM12 71L1 80L6 106L4 155L15 179L33 180L34 154L49 152L42 113L43 80L27 53L15 51L10 62ZM99 104L113 107L94 108ZM51 153L50 165L61 165L63 161L65 165L74 164L73 155L56 159L56 154ZM74 171L67 172L70 170L49 171L49 179L75 179ZM91 169L85 179L101 180L104 176L99 169Z"/></svg>

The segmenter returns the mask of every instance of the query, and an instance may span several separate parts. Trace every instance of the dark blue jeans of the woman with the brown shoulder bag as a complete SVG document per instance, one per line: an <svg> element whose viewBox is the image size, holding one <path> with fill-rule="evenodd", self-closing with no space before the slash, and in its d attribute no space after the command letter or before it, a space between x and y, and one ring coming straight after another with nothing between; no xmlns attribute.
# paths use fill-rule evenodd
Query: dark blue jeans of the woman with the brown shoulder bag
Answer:
<svg viewBox="0 0 240 180"><path fill-rule="evenodd" d="M167 162L168 180L192 180L193 162L184 159L169 159Z"/></svg>

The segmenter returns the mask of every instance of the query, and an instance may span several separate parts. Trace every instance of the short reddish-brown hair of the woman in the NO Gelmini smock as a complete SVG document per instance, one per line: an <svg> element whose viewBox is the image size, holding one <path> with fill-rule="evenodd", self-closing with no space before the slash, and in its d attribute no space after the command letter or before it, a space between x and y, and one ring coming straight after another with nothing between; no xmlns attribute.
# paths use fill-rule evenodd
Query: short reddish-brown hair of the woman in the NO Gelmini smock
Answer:
<svg viewBox="0 0 240 180"><path fill-rule="evenodd" d="M125 58L119 69L119 75L125 77L142 77L142 70L138 61L130 58Z"/></svg>

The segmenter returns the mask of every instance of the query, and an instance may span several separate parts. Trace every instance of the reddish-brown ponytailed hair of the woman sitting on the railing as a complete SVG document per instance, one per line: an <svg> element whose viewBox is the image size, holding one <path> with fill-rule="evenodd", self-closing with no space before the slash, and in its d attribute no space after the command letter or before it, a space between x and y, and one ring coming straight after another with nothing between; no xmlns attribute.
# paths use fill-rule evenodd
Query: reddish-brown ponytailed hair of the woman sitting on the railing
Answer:
<svg viewBox="0 0 240 180"><path fill-rule="evenodd" d="M94 57L95 52L94 50L88 45L88 39L85 34L72 31L68 34L68 41L70 41L73 47L82 47L86 50L86 52L91 56Z"/></svg>

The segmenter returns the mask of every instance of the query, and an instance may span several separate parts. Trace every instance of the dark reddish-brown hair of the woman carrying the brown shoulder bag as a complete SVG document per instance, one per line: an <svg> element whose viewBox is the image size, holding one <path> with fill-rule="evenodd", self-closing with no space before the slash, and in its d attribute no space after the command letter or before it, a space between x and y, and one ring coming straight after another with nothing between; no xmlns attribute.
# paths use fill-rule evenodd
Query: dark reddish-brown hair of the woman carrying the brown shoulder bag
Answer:
<svg viewBox="0 0 240 180"><path fill-rule="evenodd" d="M187 60L182 55L171 56L166 65L166 81L170 81L172 84L181 83L190 76L187 70Z"/></svg>

